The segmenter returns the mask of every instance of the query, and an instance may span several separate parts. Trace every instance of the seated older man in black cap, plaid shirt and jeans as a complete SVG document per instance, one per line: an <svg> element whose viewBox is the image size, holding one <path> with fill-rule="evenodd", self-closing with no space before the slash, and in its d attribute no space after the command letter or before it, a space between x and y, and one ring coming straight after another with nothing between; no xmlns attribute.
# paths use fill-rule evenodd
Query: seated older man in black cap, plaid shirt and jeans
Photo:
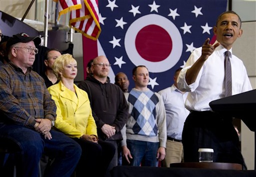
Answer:
<svg viewBox="0 0 256 177"><path fill-rule="evenodd" d="M44 79L32 65L39 37L19 33L6 44L10 62L0 67L0 137L18 144L17 170L24 177L38 176L42 153L54 158L44 176L70 176L81 156L74 140L52 129L56 105Z"/></svg>

